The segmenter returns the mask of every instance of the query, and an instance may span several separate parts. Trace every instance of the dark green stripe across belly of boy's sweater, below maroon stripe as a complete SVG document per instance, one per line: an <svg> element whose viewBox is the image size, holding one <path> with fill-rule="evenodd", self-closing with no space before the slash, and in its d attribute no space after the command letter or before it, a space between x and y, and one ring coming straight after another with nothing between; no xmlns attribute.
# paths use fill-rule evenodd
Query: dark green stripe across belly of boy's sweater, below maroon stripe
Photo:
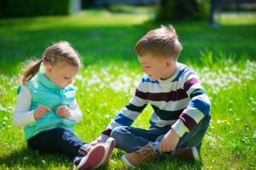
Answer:
<svg viewBox="0 0 256 170"><path fill-rule="evenodd" d="M156 115L160 117L161 120L176 120L177 118L179 118L180 114L185 109L180 109L178 111L164 111L159 109L155 105L152 105L152 108L154 109Z"/></svg>

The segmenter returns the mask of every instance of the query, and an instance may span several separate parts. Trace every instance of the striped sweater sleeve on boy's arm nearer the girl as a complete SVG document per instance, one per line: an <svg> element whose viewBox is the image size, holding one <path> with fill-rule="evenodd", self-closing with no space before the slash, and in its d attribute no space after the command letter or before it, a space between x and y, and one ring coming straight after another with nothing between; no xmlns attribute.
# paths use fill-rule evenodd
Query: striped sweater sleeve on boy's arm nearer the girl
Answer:
<svg viewBox="0 0 256 170"><path fill-rule="evenodd" d="M105 142L112 130L118 126L131 126L133 124L148 103L145 97L141 96L141 88L143 88L143 84L140 82L129 103L119 111L108 125L108 128L101 132L101 136L97 138L98 141Z"/></svg>

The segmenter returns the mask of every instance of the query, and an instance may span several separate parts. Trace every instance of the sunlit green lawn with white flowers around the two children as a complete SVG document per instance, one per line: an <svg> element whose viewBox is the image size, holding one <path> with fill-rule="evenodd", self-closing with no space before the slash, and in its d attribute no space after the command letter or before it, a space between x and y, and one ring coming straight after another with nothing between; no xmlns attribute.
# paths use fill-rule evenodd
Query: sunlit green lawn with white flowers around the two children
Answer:
<svg viewBox="0 0 256 170"><path fill-rule="evenodd" d="M141 169L255 169L255 14L221 15L217 21L218 29L207 23L172 23L184 46L179 61L197 71L212 103L201 162L164 159ZM61 155L28 150L23 129L13 126L20 62L40 58L53 41L69 41L80 52L84 67L74 84L83 119L75 131L91 142L133 95L143 75L134 45L157 27L148 22L147 14L93 10L73 16L1 19L0 169L73 168ZM133 126L147 128L151 111L148 106ZM127 169L120 159L123 153L115 149L105 168Z"/></svg>

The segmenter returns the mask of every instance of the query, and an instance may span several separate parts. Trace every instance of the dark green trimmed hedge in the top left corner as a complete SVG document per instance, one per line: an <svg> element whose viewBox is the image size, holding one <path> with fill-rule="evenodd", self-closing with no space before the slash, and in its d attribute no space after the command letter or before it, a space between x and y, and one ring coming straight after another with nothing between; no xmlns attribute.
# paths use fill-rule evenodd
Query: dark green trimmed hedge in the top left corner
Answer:
<svg viewBox="0 0 256 170"><path fill-rule="evenodd" d="M71 12L71 0L2 0L0 17L68 15Z"/></svg>

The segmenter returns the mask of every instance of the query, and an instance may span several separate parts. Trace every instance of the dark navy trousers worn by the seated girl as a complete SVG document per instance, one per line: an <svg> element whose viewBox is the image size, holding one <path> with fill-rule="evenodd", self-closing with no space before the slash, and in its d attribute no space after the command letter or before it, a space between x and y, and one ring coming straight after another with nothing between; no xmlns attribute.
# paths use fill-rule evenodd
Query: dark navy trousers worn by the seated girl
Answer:
<svg viewBox="0 0 256 170"><path fill-rule="evenodd" d="M27 141L27 146L43 154L47 152L59 152L67 156L69 160L75 162L77 160L75 158L81 157L79 148L89 145L80 141L71 131L63 128L55 128L36 134Z"/></svg>

